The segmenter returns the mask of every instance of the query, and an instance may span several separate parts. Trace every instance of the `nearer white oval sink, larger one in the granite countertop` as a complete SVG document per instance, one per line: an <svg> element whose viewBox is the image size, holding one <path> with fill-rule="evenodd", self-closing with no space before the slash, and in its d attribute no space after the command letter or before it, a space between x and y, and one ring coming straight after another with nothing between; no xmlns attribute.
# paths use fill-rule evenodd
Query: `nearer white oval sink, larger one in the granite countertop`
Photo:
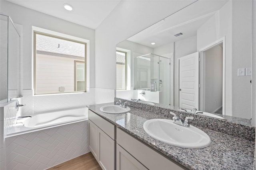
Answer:
<svg viewBox="0 0 256 170"><path fill-rule="evenodd" d="M204 131L191 125L177 125L169 119L150 119L144 123L143 129L151 137L177 147L203 148L211 143Z"/></svg>

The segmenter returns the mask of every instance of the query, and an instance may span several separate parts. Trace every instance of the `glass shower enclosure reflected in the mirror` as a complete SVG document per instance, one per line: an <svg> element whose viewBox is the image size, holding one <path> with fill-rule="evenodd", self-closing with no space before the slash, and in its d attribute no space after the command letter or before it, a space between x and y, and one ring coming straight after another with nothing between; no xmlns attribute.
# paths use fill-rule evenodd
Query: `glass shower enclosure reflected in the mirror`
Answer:
<svg viewBox="0 0 256 170"><path fill-rule="evenodd" d="M153 86L155 86L154 90L152 90ZM159 103L169 105L170 59L152 53L136 57L134 59L134 90L159 92Z"/></svg>

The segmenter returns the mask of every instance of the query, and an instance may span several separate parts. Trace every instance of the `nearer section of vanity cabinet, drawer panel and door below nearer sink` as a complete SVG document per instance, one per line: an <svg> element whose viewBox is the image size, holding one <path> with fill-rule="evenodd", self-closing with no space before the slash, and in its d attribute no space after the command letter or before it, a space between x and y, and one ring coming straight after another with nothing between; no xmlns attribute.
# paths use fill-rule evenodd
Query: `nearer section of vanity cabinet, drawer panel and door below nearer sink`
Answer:
<svg viewBox="0 0 256 170"><path fill-rule="evenodd" d="M125 131L116 129L116 169L187 170L177 162L151 149Z"/></svg>

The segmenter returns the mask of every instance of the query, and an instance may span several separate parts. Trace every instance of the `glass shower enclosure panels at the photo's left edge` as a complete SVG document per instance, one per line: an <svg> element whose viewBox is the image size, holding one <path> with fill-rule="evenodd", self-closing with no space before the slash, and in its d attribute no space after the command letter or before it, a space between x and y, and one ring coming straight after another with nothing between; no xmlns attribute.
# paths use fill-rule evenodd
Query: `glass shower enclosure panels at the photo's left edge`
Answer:
<svg viewBox="0 0 256 170"><path fill-rule="evenodd" d="M0 103L6 103L20 96L20 35L9 16L0 17Z"/></svg>

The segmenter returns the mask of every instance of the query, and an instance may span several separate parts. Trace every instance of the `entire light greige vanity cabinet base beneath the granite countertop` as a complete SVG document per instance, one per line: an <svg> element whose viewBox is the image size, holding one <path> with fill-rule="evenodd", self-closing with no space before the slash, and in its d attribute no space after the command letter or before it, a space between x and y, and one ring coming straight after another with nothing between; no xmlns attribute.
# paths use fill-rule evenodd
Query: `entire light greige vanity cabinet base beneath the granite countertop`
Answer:
<svg viewBox="0 0 256 170"><path fill-rule="evenodd" d="M89 117L89 149L103 170L187 170L93 111Z"/></svg>

